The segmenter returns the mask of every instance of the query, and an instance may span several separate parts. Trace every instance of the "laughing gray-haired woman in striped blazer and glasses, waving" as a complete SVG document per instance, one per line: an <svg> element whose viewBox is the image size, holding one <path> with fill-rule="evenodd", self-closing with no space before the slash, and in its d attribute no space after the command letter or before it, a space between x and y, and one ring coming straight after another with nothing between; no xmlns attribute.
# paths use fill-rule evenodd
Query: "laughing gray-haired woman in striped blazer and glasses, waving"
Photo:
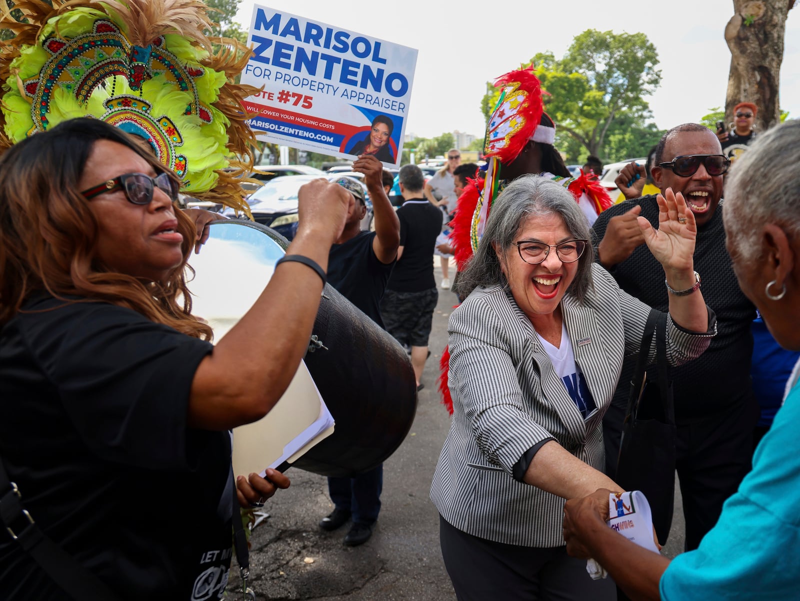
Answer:
<svg viewBox="0 0 800 601"><path fill-rule="evenodd" d="M667 359L698 357L716 331L694 273L694 215L659 197L659 228L640 226L670 294ZM598 487L602 414L622 358L638 352L650 307L593 261L586 217L537 175L494 203L450 316L454 414L431 499L458 599L615 599L566 555L564 499ZM654 349L650 351L654 360Z"/></svg>

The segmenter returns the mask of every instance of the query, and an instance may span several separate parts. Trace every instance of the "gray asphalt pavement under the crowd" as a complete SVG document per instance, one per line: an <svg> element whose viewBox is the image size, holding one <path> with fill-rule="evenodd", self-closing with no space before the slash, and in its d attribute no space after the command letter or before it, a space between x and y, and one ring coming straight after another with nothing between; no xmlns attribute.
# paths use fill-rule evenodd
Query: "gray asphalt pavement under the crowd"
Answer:
<svg viewBox="0 0 800 601"><path fill-rule="evenodd" d="M441 270L435 261L437 282ZM451 267L450 279L454 269ZM278 491L263 509L250 543L250 587L256 599L284 601L454 601L438 543L438 512L430 502L430 481L442 450L450 416L436 386L438 363L447 343L447 318L457 303L439 289L430 335L430 359L422 375L418 409L406 440L384 463L382 510L374 534L360 547L342 539L350 523L326 532L318 522L333 511L326 478L290 469L291 486ZM676 519L664 554L682 550L682 515L676 495ZM229 598L240 582L230 571Z"/></svg>

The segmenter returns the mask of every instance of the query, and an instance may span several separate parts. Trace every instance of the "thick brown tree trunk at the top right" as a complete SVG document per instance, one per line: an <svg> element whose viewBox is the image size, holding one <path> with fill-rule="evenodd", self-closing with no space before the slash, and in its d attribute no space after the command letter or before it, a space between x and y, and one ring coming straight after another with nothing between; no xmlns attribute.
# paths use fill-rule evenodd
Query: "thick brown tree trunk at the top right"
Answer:
<svg viewBox="0 0 800 601"><path fill-rule="evenodd" d="M734 16L725 27L730 48L726 122L734 120L734 106L739 102L758 106L757 131L780 122L783 36L786 15L793 5L794 0L734 0Z"/></svg>

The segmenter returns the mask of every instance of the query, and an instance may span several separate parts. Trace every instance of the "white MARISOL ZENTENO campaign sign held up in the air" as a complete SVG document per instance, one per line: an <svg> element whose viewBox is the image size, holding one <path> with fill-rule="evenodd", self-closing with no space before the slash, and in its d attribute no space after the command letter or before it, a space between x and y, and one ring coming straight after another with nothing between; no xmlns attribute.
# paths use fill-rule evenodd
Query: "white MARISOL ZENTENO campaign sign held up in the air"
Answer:
<svg viewBox="0 0 800 601"><path fill-rule="evenodd" d="M417 50L258 5L248 43L258 139L399 166Z"/></svg>

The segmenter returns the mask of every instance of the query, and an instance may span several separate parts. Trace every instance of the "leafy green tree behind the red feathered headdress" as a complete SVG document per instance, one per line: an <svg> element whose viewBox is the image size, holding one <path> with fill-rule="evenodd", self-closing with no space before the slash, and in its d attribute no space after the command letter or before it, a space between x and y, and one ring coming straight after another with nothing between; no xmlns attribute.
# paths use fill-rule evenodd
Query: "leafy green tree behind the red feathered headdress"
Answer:
<svg viewBox="0 0 800 601"><path fill-rule="evenodd" d="M604 146L615 121L649 130L645 97L658 87L661 71L656 69L655 46L645 34L586 30L574 38L564 58L548 51L534 55L530 63L549 94L544 97L545 110L557 123L557 131L578 144L559 135L559 147L568 147L568 157L608 154ZM499 90L489 84L487 96L488 92L490 97L482 99L487 121Z"/></svg>

